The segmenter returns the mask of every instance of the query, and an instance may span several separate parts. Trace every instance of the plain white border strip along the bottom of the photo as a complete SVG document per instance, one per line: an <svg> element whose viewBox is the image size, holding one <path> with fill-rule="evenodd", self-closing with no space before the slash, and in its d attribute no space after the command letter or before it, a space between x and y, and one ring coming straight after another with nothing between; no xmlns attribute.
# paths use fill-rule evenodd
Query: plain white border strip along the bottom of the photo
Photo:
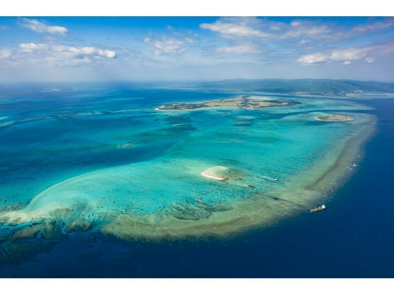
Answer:
<svg viewBox="0 0 394 294"><path fill-rule="evenodd" d="M0 279L2 293L333 294L391 293L393 279Z"/></svg>

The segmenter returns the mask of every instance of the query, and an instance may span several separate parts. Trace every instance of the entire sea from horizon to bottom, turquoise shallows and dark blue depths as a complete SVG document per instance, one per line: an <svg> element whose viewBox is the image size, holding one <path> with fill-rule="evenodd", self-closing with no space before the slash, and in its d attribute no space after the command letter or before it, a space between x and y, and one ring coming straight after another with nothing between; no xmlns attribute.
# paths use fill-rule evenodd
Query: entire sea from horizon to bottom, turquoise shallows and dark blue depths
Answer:
<svg viewBox="0 0 394 294"><path fill-rule="evenodd" d="M393 99L163 112L245 93L73 87L0 93L1 277L393 277ZM218 165L236 179L200 177Z"/></svg>

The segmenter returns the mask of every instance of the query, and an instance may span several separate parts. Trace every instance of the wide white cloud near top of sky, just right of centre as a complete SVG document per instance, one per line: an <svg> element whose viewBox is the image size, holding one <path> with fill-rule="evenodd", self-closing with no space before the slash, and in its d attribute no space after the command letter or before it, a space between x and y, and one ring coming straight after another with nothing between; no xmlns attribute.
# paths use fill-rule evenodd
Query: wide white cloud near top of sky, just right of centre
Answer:
<svg viewBox="0 0 394 294"><path fill-rule="evenodd" d="M251 17L230 17L217 20L212 24L200 24L201 29L219 32L224 37L268 37L270 34L259 29L262 21Z"/></svg>

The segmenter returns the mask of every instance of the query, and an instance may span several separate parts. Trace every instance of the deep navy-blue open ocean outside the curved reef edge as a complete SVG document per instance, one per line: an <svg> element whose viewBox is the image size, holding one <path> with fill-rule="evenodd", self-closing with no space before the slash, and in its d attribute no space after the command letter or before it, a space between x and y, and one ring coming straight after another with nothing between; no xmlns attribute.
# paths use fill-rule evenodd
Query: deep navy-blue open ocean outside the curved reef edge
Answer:
<svg viewBox="0 0 394 294"><path fill-rule="evenodd" d="M377 129L328 209L228 239L126 242L71 233L1 277L394 277L394 100L362 100Z"/></svg>

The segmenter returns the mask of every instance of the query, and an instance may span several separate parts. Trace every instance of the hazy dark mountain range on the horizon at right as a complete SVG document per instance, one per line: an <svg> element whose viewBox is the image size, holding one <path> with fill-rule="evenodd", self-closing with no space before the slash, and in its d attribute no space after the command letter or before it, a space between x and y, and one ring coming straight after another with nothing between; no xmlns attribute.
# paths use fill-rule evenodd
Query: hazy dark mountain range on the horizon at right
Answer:
<svg viewBox="0 0 394 294"><path fill-rule="evenodd" d="M223 88L244 91L276 93L305 93L320 95L341 95L348 93L394 93L394 83L374 81L329 80L329 79L233 79L217 82L204 82L198 88Z"/></svg>

